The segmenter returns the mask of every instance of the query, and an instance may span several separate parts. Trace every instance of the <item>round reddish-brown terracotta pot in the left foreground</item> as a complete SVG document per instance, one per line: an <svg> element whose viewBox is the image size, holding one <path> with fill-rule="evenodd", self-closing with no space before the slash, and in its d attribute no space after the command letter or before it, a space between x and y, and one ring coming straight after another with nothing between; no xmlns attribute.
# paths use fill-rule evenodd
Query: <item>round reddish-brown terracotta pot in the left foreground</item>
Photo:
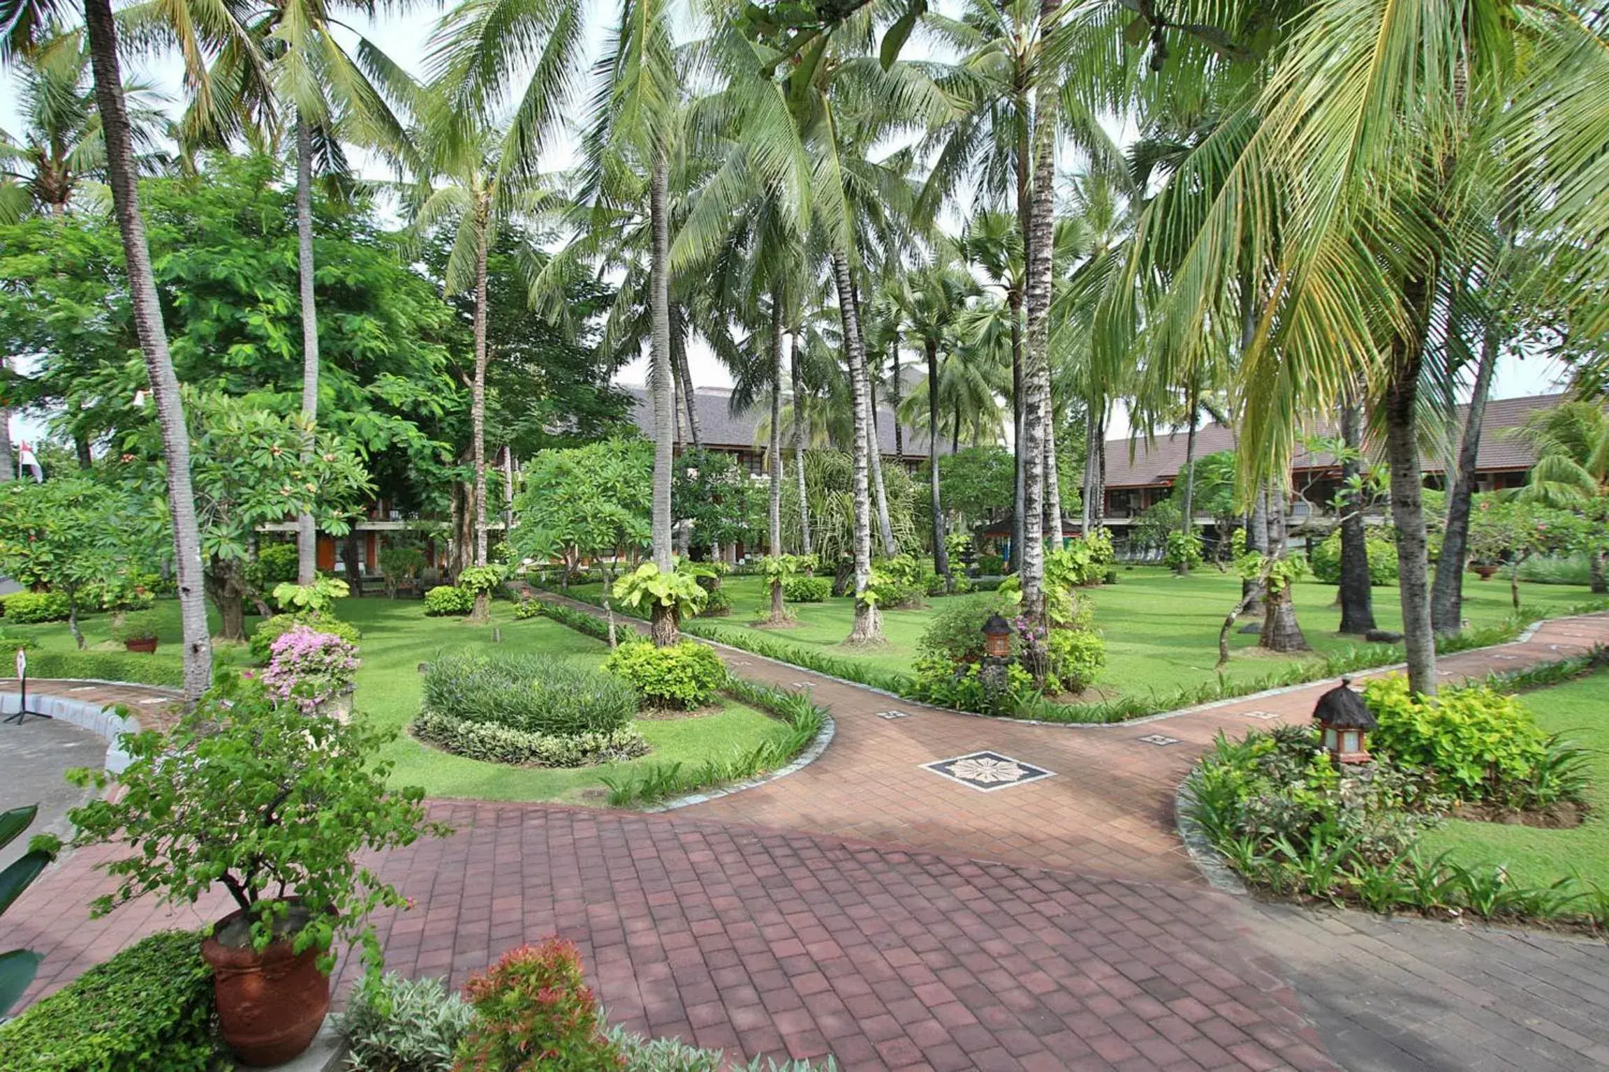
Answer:
<svg viewBox="0 0 1609 1072"><path fill-rule="evenodd" d="M288 939L257 953L241 937L248 924L245 911L230 913L201 942L201 956L212 966L217 1022L241 1064L283 1064L307 1049L323 1025L330 977L319 971L319 950L291 953Z"/></svg>

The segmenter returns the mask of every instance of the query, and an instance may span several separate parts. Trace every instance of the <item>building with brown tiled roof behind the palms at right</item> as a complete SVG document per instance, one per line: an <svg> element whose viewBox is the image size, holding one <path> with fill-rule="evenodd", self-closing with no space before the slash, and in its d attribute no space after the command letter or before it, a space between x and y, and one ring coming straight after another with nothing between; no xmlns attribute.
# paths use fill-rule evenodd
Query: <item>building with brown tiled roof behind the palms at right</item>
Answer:
<svg viewBox="0 0 1609 1072"><path fill-rule="evenodd" d="M1475 481L1480 490L1521 487L1530 468L1537 463L1535 452L1516 429L1522 428L1540 410L1549 410L1569 395L1546 394L1522 399L1492 399L1480 421L1480 450L1475 456ZM1451 428L1464 424L1467 407L1458 407ZM1319 437L1337 436L1331 421L1319 421L1313 429ZM1157 436L1150 442L1141 437L1110 439L1105 444L1105 518L1113 526L1123 526L1147 506L1167 498L1173 490L1173 477L1184 466L1186 432L1176 431ZM1234 450L1234 429L1212 423L1195 431L1195 456L1205 458L1220 450ZM1446 458L1438 452L1424 452L1426 484L1440 487L1446 476ZM1308 505L1329 501L1340 481L1340 466L1326 453L1310 453L1297 448L1290 460L1292 485Z"/></svg>

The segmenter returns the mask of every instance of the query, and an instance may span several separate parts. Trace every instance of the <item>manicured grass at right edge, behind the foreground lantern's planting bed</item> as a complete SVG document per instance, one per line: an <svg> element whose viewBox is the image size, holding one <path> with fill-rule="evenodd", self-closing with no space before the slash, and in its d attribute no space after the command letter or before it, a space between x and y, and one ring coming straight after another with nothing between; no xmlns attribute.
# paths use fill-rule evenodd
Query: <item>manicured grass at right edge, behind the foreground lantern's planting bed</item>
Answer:
<svg viewBox="0 0 1609 1072"><path fill-rule="evenodd" d="M1498 863L1525 886L1577 874L1609 890L1609 670L1527 693L1524 701L1543 730L1590 749L1591 815L1572 829L1450 820L1424 836L1426 855L1451 850L1466 866Z"/></svg>

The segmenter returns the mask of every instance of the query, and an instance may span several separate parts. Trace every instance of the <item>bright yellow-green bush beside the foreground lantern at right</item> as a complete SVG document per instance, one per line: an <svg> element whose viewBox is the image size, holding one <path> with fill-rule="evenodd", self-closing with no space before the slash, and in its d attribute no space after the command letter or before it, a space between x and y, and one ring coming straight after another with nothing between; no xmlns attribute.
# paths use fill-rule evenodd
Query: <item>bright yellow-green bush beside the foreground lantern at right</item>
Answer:
<svg viewBox="0 0 1609 1072"><path fill-rule="evenodd" d="M1372 751L1424 768L1437 789L1459 800L1524 804L1548 760L1549 738L1512 696L1485 686L1416 696L1392 675L1363 689L1379 728Z"/></svg>

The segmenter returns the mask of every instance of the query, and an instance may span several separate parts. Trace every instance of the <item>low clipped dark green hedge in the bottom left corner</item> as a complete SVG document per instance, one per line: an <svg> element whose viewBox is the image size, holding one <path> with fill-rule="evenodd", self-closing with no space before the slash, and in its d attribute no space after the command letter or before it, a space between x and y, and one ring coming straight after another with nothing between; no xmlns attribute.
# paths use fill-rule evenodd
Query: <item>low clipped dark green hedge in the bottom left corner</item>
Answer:
<svg viewBox="0 0 1609 1072"><path fill-rule="evenodd" d="M201 937L164 931L0 1025L0 1072L206 1072L212 969Z"/></svg>

